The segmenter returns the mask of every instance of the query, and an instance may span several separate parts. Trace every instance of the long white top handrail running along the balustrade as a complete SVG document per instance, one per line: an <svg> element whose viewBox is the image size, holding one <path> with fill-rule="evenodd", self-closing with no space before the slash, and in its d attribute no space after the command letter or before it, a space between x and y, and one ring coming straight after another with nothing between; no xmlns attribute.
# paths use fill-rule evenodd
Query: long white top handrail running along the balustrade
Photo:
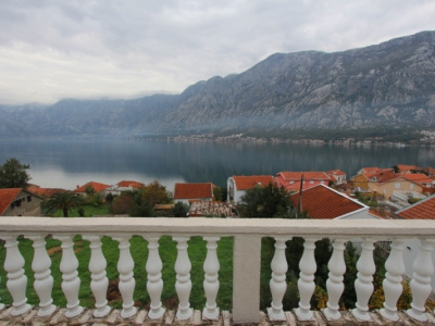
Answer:
<svg viewBox="0 0 435 326"><path fill-rule="evenodd" d="M285 220L167 217L0 217L0 233L14 234L166 234L324 237L433 236L430 220Z"/></svg>

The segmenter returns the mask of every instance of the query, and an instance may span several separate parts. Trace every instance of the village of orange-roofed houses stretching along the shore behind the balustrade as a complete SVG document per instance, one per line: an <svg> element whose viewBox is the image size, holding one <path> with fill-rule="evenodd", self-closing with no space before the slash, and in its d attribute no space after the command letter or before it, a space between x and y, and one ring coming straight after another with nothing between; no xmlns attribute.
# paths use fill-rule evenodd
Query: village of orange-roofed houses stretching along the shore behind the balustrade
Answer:
<svg viewBox="0 0 435 326"><path fill-rule="evenodd" d="M172 203L156 203L158 216L170 216L177 202L188 206L186 217L239 217L237 206L246 191L270 184L289 193L289 205L304 212L310 218L435 218L419 212L423 202L435 204L435 168L398 164L393 167L362 167L350 178L340 170L326 172L283 171L275 175L233 175L227 178L224 198L216 198L212 183L177 183L171 191ZM146 187L137 180L121 180L105 185L90 180L72 192L86 198L89 189L102 199ZM222 190L222 189L221 189ZM59 188L30 185L27 189L0 189L1 216L40 216L40 203L58 192ZM402 212L413 209L413 215Z"/></svg>

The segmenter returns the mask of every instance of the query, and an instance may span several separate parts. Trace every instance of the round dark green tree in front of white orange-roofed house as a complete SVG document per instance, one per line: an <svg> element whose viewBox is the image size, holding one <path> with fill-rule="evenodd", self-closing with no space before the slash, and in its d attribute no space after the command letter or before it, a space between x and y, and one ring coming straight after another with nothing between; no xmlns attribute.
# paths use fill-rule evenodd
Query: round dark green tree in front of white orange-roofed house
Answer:
<svg viewBox="0 0 435 326"><path fill-rule="evenodd" d="M241 197L239 212L243 217L285 217L288 212L289 193L284 187L269 184L248 189Z"/></svg>

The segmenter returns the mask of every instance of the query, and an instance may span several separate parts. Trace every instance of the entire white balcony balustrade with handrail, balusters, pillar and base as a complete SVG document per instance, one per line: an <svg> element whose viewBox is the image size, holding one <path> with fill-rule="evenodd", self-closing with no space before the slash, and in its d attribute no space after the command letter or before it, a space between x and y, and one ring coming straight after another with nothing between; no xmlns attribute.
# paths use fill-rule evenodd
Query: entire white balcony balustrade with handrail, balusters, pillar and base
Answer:
<svg viewBox="0 0 435 326"><path fill-rule="evenodd" d="M46 237L61 241L62 291L65 306L53 305L51 259L46 250ZM73 237L80 235L89 241L90 259L88 268L91 274L90 288L95 306L84 309L78 300L83 284L78 277L78 262L74 251ZM33 241L34 253L32 269L34 291L26 291L28 278L24 271L25 259L18 248L18 238ZM147 272L145 287L136 286L133 268L135 261L130 254L133 236L142 237L147 243L142 249L148 252L144 268ZM166 310L162 305L163 263L159 253L159 239L170 236L176 242L175 289L177 309ZM107 262L103 255L102 237L110 237L119 246L119 261ZM190 278L191 263L188 254L188 240L202 237L207 255L203 261L203 284L194 284ZM216 304L220 284L220 262L216 254L219 241L223 237L233 238L233 294L232 308L221 310ZM271 263L270 288L272 302L270 308L260 311L260 265L261 239L272 237L275 251ZM287 288L285 256L286 241L293 237L302 237L303 254L299 261L298 278L299 305L291 311L283 310L283 298ZM327 306L315 311L310 305L314 292L315 241L328 237L333 241L333 254L327 264L328 279ZM368 220L224 220L224 218L49 218L49 217L0 217L0 238L4 240L1 250L5 250L4 266L7 279L0 287L7 287L12 304L0 311L0 323L11 324L79 324L79 325L138 325L138 324L289 324L289 325L338 325L338 324L435 324L433 311L425 303L432 292L431 277L434 273L432 262L435 242L435 221L368 221ZM412 291L411 308L398 311L397 302L402 292L405 274L403 251L410 239L418 238L419 249L412 264L410 281ZM344 291L345 242L359 239L361 253L357 263L358 277L355 281L357 303L352 310L341 311L339 299ZM369 300L373 293L374 243L390 241L389 255L385 263L386 277L383 280L385 301L383 309L369 310ZM3 249L4 247L4 249ZM108 263L116 264L120 275L119 289L122 294L122 308L112 309L108 304ZM29 272L32 273L32 271ZM203 310L190 308L190 293L194 287L203 287ZM148 309L137 309L134 293L147 291L150 298ZM27 298L37 298L30 305ZM0 299L1 302L1 299Z"/></svg>

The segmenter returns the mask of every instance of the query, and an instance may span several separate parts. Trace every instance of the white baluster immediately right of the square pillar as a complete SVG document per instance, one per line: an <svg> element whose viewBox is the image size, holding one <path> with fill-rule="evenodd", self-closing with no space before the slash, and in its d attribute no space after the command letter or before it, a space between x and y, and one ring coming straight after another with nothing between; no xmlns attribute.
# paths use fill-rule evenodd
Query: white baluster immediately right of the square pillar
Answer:
<svg viewBox="0 0 435 326"><path fill-rule="evenodd" d="M275 253L271 262L272 278L270 281L272 302L268 309L268 315L271 321L285 321L283 310L283 298L287 290L286 273L288 269L285 255L286 238L275 237Z"/></svg>

